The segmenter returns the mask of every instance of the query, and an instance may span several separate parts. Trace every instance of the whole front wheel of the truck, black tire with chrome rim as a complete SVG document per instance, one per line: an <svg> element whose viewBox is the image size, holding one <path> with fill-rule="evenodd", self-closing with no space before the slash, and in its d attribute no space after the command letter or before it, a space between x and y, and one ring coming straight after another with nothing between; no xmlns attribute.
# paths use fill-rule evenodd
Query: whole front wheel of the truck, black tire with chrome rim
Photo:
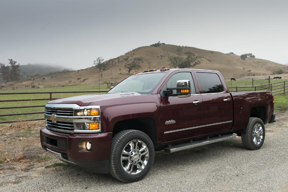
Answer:
<svg viewBox="0 0 288 192"><path fill-rule="evenodd" d="M145 133L123 130L112 138L109 173L115 179L126 183L139 181L148 174L153 161L154 146Z"/></svg>

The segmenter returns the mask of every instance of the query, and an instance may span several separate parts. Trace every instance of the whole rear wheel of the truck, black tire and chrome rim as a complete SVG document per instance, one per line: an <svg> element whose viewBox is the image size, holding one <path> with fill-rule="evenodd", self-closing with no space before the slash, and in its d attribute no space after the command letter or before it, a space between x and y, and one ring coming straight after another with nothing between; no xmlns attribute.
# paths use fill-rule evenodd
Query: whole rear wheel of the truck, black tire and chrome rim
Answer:
<svg viewBox="0 0 288 192"><path fill-rule="evenodd" d="M261 119L250 117L246 132L241 134L241 140L246 149L257 150L263 145L265 127Z"/></svg>

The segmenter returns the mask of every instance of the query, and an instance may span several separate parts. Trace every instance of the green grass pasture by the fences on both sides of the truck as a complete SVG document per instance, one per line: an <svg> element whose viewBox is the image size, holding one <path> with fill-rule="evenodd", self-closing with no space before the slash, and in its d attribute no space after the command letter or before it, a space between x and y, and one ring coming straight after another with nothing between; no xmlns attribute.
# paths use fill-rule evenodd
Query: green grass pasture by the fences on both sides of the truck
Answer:
<svg viewBox="0 0 288 192"><path fill-rule="evenodd" d="M284 79L270 79L270 83L275 83L283 81ZM287 79L285 79L287 80ZM268 83L268 80L255 81L255 85L264 85ZM231 87L231 81L226 81L228 87ZM233 87L241 86L252 86L252 80L241 80L232 81ZM53 88L38 88L38 89L22 89L22 90L0 90L3 92L46 92L46 91L97 91L98 85L83 85L83 86L66 86L66 87L53 87ZM107 85L100 85L100 90L109 90ZM236 89L229 89L236 90ZM280 92L279 92L280 93ZM65 98L77 95L85 95L92 93L55 93L52 94L53 98ZM288 95L288 93L287 93ZM275 98L275 111L285 111L288 109L288 96L287 95L276 95ZM50 94L15 94L15 95L0 95L1 100L8 99L31 99L31 98L49 98ZM15 101L15 102L0 102L0 107L11 107L11 106L27 106L27 105L45 105L48 100L40 101ZM10 114L10 113L28 113L28 112L38 112L44 111L44 107L33 107L33 108L19 108L19 109L1 109L0 114ZM0 121L12 121L20 119L38 119L43 118L43 114L31 114L31 115L15 115L15 116L4 116L0 117Z"/></svg>

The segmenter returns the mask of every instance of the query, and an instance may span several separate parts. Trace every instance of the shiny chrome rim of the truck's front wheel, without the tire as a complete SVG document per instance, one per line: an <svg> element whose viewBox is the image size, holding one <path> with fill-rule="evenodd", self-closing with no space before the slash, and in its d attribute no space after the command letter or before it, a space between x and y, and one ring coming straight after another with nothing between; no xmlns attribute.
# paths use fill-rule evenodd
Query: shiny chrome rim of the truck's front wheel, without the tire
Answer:
<svg viewBox="0 0 288 192"><path fill-rule="evenodd" d="M121 164L128 174L140 173L147 165L149 151L147 145L141 140L128 142L121 154Z"/></svg>

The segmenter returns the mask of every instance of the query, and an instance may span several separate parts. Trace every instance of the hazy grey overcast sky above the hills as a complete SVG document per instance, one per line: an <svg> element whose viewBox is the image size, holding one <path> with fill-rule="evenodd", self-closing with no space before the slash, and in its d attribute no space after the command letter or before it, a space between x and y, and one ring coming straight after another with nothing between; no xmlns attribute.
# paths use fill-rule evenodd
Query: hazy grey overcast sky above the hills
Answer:
<svg viewBox="0 0 288 192"><path fill-rule="evenodd" d="M288 1L0 0L0 62L85 69L158 41L288 64Z"/></svg>

